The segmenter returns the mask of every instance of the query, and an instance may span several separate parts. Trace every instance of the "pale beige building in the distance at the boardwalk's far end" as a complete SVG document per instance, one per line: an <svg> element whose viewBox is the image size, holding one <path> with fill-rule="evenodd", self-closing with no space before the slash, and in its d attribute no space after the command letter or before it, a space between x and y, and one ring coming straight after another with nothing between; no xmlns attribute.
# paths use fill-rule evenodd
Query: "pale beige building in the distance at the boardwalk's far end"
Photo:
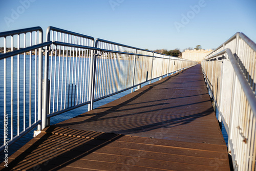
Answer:
<svg viewBox="0 0 256 171"><path fill-rule="evenodd" d="M185 52L182 52L182 58L183 59L188 59L188 60L194 60L194 61L202 61L202 59L208 55L210 52L212 52L211 49L207 50L185 50Z"/></svg>

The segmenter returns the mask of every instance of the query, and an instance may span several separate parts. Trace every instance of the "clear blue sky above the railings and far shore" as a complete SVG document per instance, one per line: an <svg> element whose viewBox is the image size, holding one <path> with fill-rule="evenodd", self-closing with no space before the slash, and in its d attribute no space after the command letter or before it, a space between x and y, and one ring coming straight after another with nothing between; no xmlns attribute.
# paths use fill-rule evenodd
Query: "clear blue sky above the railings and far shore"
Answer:
<svg viewBox="0 0 256 171"><path fill-rule="evenodd" d="M211 49L238 31L256 41L256 1L0 0L0 32L34 26L142 49Z"/></svg>

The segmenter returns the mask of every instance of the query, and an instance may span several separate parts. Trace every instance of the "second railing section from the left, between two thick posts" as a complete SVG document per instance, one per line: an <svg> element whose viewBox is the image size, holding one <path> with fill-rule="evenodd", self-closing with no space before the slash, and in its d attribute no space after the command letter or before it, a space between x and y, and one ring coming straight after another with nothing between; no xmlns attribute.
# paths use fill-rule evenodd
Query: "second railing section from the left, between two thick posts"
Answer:
<svg viewBox="0 0 256 171"><path fill-rule="evenodd" d="M45 70L50 86L45 91L49 98L44 99L49 111L44 115L49 118L90 103L94 38L55 27L48 27L46 34L47 41L53 42Z"/></svg>

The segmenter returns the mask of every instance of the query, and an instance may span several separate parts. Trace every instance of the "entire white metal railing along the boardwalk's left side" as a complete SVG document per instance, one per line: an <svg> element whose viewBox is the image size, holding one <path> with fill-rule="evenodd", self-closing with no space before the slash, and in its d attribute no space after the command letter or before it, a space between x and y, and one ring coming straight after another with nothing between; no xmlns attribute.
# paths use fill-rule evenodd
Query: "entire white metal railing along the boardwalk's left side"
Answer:
<svg viewBox="0 0 256 171"><path fill-rule="evenodd" d="M92 110L97 100L197 64L55 27L47 28L46 42L42 36L40 27L0 33L0 114L11 118L0 120L3 136L11 135L0 151L37 125L38 134L50 117L85 104Z"/></svg>

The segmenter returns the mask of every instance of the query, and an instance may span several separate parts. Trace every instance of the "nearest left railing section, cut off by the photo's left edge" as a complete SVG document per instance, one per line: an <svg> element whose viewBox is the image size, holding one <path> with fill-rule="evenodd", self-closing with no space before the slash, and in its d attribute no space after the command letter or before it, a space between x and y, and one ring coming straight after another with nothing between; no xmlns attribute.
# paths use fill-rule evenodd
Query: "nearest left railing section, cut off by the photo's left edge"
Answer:
<svg viewBox="0 0 256 171"><path fill-rule="evenodd" d="M41 123L41 51L51 42L42 43L40 27L2 32L0 37L4 44L4 53L0 54L0 79L4 82L0 125L4 128L4 144L11 145ZM4 145L0 147L3 149Z"/></svg>

